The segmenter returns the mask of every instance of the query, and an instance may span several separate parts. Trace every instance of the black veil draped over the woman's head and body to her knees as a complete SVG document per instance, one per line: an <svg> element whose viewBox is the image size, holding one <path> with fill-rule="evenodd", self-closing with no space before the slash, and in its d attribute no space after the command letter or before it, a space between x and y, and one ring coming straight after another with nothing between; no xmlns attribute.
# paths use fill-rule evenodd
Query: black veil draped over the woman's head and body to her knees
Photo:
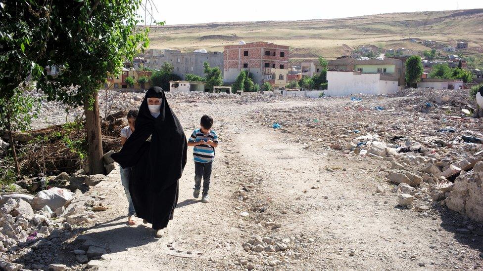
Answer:
<svg viewBox="0 0 483 271"><path fill-rule="evenodd" d="M160 114L156 118L149 112L147 98L162 99ZM149 136L150 142L146 141ZM136 167L138 173L144 173L143 179L149 183L148 187L161 192L181 178L187 148L180 121L169 108L163 89L155 86L146 92L134 132L121 151L111 157L124 168Z"/></svg>

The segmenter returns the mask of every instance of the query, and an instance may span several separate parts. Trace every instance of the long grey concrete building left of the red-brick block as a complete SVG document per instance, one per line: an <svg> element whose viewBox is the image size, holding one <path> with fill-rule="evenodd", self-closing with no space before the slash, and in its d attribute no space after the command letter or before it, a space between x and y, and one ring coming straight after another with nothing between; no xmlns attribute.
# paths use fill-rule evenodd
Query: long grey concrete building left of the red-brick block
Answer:
<svg viewBox="0 0 483 271"><path fill-rule="evenodd" d="M181 52L170 49L149 49L143 55L145 67L159 70L165 63L174 67L173 74L185 78L187 74L204 77L203 63L208 62L210 67L218 67L223 73L223 53L195 50L194 52ZM136 58L135 58L136 60Z"/></svg>

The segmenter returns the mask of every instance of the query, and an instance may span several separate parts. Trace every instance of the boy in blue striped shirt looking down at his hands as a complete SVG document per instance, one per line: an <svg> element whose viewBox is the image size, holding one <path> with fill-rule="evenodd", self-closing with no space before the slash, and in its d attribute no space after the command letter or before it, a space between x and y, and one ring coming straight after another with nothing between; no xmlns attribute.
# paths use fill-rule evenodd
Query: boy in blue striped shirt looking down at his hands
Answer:
<svg viewBox="0 0 483 271"><path fill-rule="evenodd" d="M210 188L211 166L215 158L215 148L218 147L218 137L215 131L211 130L213 118L202 116L199 123L200 128L193 131L188 146L193 146L194 160L194 192L193 197L198 198L203 178L203 194L201 202L208 202L208 190Z"/></svg>

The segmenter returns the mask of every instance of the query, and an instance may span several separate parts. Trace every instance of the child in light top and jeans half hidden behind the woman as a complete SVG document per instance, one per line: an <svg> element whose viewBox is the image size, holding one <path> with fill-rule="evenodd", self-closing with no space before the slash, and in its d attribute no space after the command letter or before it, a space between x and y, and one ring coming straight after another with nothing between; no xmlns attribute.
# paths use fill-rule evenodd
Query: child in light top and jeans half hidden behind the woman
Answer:
<svg viewBox="0 0 483 271"><path fill-rule="evenodd" d="M137 116L138 116L137 109L131 109L128 112L128 116L127 116L128 126L121 129L121 145L124 145L124 143L126 143L126 140L128 140L128 138L134 132L134 125L136 124ZM120 166L119 170L121 171L121 183L122 183L122 186L124 187L124 192L126 193L126 197L128 198L128 203L129 203L128 224L135 225L136 220L134 220L134 217L136 216L136 211L134 210L131 194L129 194L129 173L131 172L131 168L130 167L123 168Z"/></svg>

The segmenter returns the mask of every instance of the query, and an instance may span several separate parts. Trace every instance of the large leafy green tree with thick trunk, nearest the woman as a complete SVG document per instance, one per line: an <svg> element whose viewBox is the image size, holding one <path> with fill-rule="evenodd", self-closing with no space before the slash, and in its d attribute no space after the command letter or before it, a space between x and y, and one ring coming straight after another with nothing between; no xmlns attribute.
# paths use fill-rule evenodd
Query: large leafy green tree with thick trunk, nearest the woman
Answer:
<svg viewBox="0 0 483 271"><path fill-rule="evenodd" d="M24 2L28 8L32 1L18 1L17 5ZM107 74L120 74L124 60L132 61L139 45L149 43L149 29L137 31L140 4L141 0L83 0L44 6L49 18L44 30L51 38L39 65L55 65L60 73L55 77L44 73L38 87L49 100L84 106L91 174L104 173L98 90ZM76 87L69 88L71 85Z"/></svg>

